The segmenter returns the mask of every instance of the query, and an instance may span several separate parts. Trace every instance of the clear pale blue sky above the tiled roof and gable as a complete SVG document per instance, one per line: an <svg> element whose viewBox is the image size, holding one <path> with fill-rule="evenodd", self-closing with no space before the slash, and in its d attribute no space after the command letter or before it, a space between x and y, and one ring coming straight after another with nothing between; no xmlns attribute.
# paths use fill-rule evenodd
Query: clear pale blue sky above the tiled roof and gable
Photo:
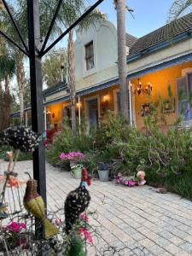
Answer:
<svg viewBox="0 0 192 256"><path fill-rule="evenodd" d="M173 0L127 0L129 8L134 9L135 19L126 13L126 32L141 38L148 32L152 32L166 24L168 10ZM108 20L116 24L116 11L113 8L113 0L104 0L99 9L108 15Z"/></svg>

